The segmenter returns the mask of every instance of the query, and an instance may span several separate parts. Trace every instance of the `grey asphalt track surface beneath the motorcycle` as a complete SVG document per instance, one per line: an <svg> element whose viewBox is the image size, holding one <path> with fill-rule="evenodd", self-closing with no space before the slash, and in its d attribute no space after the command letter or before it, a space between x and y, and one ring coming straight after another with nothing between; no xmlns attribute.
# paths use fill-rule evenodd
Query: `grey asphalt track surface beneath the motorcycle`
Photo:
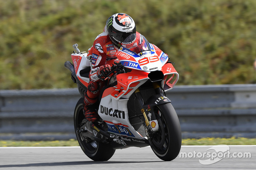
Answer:
<svg viewBox="0 0 256 170"><path fill-rule="evenodd" d="M214 150L207 151L212 147ZM105 162L92 161L80 147L0 147L0 169L256 169L256 145L229 145L228 147L231 157L235 152L240 152L239 157L245 152L250 152L251 158L238 158L238 156L223 158L222 153L225 153L223 149L227 148L227 145L222 149L219 148L220 150L217 150L216 146L182 146L180 153L187 153L187 158L179 155L169 162L156 157L150 147L116 150L113 157ZM212 158L215 154L219 154L219 158L208 161L209 165L202 165L199 160L208 158L206 155L203 158L198 153L204 154L210 151L212 151ZM213 162L217 160L219 161ZM206 164L205 161L202 163Z"/></svg>

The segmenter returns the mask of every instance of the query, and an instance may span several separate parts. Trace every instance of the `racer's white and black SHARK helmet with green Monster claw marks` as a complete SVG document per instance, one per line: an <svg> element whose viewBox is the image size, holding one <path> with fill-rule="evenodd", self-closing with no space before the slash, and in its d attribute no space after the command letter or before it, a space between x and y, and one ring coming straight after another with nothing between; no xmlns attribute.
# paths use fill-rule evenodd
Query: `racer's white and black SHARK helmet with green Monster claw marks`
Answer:
<svg viewBox="0 0 256 170"><path fill-rule="evenodd" d="M124 40L131 34L136 33L136 26L133 19L124 13L116 13L108 18L106 23L108 35L113 45L120 48ZM131 40L134 42L136 37Z"/></svg>

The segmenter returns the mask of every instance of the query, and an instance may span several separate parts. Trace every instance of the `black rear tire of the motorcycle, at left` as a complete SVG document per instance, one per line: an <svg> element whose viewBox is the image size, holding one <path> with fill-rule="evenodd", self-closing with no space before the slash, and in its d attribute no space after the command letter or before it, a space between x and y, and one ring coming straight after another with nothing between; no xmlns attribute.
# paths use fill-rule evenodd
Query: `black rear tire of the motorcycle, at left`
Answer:
<svg viewBox="0 0 256 170"><path fill-rule="evenodd" d="M75 132L77 131L77 129L80 128L79 124L85 119L84 113L83 113L83 103L84 103L84 99L81 98L78 100L75 107L75 112L74 112ZM77 132L76 132L76 138L85 155L87 155L90 159L94 161L107 161L114 155L116 151L111 147L109 143L105 144L102 142L85 139L85 137L83 137L81 134L78 134Z"/></svg>

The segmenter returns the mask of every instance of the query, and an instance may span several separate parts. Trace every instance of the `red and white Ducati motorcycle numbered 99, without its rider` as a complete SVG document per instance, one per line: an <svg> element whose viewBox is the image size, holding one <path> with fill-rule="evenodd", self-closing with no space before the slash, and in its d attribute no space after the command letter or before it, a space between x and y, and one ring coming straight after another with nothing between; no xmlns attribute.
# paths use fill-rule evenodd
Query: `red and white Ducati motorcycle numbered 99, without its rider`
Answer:
<svg viewBox="0 0 256 170"><path fill-rule="evenodd" d="M130 36L134 36L133 34ZM181 147L178 116L165 92L179 79L169 57L144 39L140 53L123 46L105 78L106 86L99 96L100 121L89 122L83 113L83 97L89 82L91 62L86 52L71 55L73 64L65 62L81 94L74 112L76 137L84 153L94 161L110 159L116 149L150 145L157 157L175 159ZM146 50L145 50L146 49ZM110 64L111 65L111 64Z"/></svg>

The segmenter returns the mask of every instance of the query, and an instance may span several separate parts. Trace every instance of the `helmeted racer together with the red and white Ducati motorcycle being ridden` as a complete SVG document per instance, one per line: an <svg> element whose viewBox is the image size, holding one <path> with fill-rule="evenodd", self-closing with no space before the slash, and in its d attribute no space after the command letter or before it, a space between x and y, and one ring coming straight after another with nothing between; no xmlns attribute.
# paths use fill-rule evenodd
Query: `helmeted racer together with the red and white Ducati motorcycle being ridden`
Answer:
<svg viewBox="0 0 256 170"><path fill-rule="evenodd" d="M132 21L126 14L112 17L89 53L74 44L73 64L64 63L81 95L74 110L77 141L94 161L107 161L116 149L148 145L158 158L173 160L180 152L181 129L165 92L179 74L168 55L133 30L136 27L130 35L125 32L131 25L126 21ZM113 27L114 19L121 26ZM110 67L112 63L116 65Z"/></svg>

